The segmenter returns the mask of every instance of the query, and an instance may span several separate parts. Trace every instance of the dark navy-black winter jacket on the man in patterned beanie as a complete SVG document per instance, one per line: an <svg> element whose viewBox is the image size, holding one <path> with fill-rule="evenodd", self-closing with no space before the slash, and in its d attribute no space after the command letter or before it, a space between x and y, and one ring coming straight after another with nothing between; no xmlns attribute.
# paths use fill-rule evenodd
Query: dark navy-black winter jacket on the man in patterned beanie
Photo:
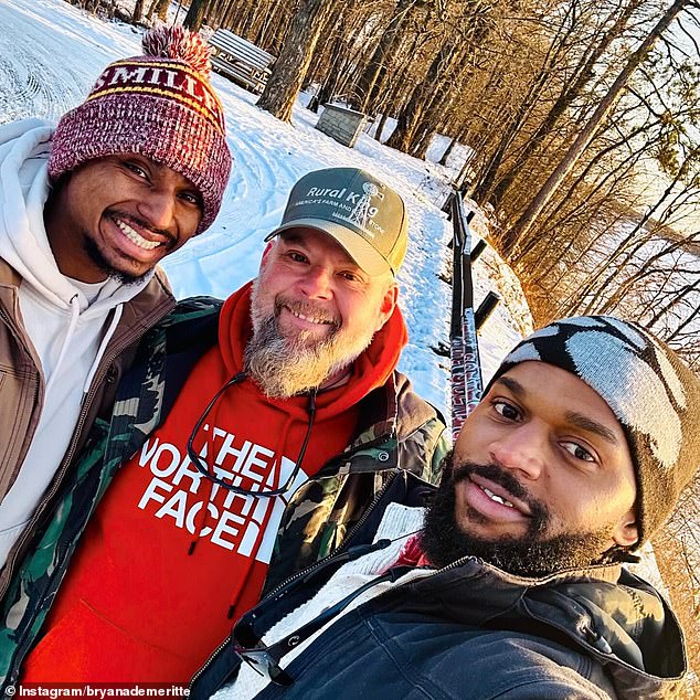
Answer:
<svg viewBox="0 0 700 700"><path fill-rule="evenodd" d="M390 501L420 505L432 488L402 474L336 556L371 541ZM332 561L288 595L273 591L255 608L256 630L309 600L342 563ZM230 682L238 666L231 644L221 648L195 677L193 697ZM294 683L268 685L256 700L641 700L677 697L687 670L672 612L626 570L524 579L473 556L339 617L280 666Z"/></svg>

